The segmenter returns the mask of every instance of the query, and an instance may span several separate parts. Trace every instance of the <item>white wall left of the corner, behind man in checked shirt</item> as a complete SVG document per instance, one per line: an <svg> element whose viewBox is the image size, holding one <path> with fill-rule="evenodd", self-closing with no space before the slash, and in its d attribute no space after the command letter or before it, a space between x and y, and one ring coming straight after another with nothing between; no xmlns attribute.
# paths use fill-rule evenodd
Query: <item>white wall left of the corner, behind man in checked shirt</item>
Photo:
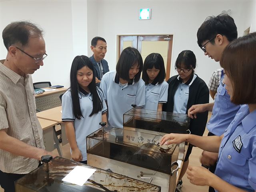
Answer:
<svg viewBox="0 0 256 192"><path fill-rule="evenodd" d="M86 0L8 0L0 2L0 31L10 22L30 20L44 30L44 66L36 71L33 82L50 81L69 86L74 56L87 53ZM2 36L0 58L7 54Z"/></svg>

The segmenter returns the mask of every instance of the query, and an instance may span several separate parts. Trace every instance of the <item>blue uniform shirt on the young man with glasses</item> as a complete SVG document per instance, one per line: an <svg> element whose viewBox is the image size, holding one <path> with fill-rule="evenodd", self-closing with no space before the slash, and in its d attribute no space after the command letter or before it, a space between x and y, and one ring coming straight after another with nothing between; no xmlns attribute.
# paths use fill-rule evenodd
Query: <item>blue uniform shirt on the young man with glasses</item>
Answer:
<svg viewBox="0 0 256 192"><path fill-rule="evenodd" d="M230 101L230 95L223 83L224 73L222 70L220 84L217 89L212 116L206 124L207 129L214 135L221 136L230 122L234 119L240 105L235 105Z"/></svg>

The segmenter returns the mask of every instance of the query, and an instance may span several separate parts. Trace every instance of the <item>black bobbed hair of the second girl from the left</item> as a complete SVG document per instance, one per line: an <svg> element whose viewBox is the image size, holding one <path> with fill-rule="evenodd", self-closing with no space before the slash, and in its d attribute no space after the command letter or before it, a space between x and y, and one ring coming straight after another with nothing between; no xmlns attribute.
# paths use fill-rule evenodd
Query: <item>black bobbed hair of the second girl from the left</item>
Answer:
<svg viewBox="0 0 256 192"><path fill-rule="evenodd" d="M140 70L135 75L134 81L138 82L143 68L143 60L140 52L136 48L127 47L122 51L116 64L116 73L123 80L129 81L129 70L136 62L138 62Z"/></svg>

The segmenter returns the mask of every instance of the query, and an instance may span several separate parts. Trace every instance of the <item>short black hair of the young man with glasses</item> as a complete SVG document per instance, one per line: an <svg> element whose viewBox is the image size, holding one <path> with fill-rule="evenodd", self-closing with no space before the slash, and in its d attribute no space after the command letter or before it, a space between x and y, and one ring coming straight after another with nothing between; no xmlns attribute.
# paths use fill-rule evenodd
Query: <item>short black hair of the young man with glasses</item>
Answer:
<svg viewBox="0 0 256 192"><path fill-rule="evenodd" d="M197 43L201 47L206 40L217 34L226 36L229 42L237 38L237 28L234 19L228 14L207 17L197 31ZM214 44L214 39L210 41Z"/></svg>

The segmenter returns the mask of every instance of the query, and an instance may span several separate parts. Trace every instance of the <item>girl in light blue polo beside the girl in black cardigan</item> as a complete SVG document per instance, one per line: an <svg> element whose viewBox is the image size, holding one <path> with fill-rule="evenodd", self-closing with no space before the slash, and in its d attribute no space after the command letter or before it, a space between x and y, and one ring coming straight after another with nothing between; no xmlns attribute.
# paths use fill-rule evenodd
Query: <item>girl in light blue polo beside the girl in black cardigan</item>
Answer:
<svg viewBox="0 0 256 192"><path fill-rule="evenodd" d="M142 79L145 82L146 104L144 109L162 111L167 102L168 83L165 79L164 59L159 53L149 54L143 64Z"/></svg>

